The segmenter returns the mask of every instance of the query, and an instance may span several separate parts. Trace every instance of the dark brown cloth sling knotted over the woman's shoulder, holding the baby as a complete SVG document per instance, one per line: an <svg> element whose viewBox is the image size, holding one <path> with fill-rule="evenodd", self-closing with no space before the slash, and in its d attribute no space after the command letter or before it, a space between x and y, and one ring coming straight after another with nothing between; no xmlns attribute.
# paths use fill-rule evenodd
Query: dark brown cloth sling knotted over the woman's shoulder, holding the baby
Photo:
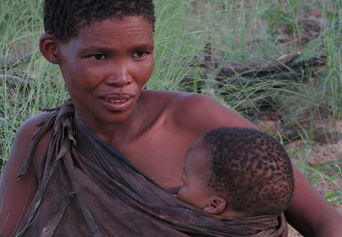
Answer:
<svg viewBox="0 0 342 237"><path fill-rule="evenodd" d="M283 214L230 219L177 200L84 126L71 101L39 126L18 180L52 136L18 236L287 236Z"/></svg>

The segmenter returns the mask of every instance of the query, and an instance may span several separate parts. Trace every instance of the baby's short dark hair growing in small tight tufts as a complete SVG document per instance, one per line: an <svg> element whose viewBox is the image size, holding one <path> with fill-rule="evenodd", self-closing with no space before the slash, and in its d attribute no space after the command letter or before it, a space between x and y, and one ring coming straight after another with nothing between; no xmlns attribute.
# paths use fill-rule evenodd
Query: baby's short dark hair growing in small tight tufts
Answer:
<svg viewBox="0 0 342 237"><path fill-rule="evenodd" d="M249 216L279 215L293 194L291 161L275 138L247 128L219 128L204 135L212 152L208 185Z"/></svg>

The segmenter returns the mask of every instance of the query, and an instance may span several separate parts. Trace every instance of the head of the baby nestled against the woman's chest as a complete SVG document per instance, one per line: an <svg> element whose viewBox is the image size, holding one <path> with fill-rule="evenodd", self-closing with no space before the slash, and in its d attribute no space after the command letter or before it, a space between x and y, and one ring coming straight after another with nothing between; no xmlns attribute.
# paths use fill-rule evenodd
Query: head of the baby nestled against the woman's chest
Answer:
<svg viewBox="0 0 342 237"><path fill-rule="evenodd" d="M187 151L178 199L232 218L279 215L294 180L291 161L273 137L247 128L219 128Z"/></svg>

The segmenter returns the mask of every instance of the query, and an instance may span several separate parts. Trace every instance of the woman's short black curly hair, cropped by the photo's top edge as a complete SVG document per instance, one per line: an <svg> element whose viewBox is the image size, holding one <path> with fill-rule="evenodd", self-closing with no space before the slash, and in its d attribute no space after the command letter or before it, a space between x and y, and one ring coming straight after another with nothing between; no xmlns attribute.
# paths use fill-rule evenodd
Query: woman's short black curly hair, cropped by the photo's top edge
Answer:
<svg viewBox="0 0 342 237"><path fill-rule="evenodd" d="M44 28L62 42L80 28L112 17L143 16L155 26L152 0L45 0Z"/></svg>

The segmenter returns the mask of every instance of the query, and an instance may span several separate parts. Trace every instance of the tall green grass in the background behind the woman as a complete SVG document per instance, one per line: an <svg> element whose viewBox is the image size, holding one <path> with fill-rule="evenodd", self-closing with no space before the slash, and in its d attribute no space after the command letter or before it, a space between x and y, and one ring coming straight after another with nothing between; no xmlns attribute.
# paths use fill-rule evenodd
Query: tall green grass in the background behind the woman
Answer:
<svg viewBox="0 0 342 237"><path fill-rule="evenodd" d="M38 40L44 31L42 2L0 2L0 60L7 63L20 55L31 54L25 63L1 72L0 164L3 168L18 126L42 108L56 107L68 97L59 68L48 63L38 49ZM145 88L202 92L245 114L258 111L260 100L270 100L274 111L282 111L284 126L296 127L305 141L301 150L291 153L292 157L303 157L299 163L301 171L313 183L342 179L341 157L334 158L333 165L315 168L308 165L305 154L310 153L314 144L310 131L315 125L308 128L301 123L308 114L314 120L314 114L322 109L327 111L328 121L340 120L342 116L342 6L339 1L156 0L155 5L155 71ZM307 19L302 16L317 10L322 14L322 20L317 23L320 30L308 37L312 29L308 30ZM284 38L284 35L290 37ZM238 73L223 78L220 83L216 80L227 62L269 63L285 53L298 51L300 60L326 57L326 66L305 78L306 83L254 80L246 84L239 80ZM203 67L203 58L209 52L213 62ZM217 67L213 67L215 63ZM6 75L16 75L21 80L10 80ZM212 90L217 87L220 87L217 91ZM325 120L325 115L321 119ZM281 133L278 137L283 138ZM326 199L332 202L340 201L341 196L341 189L326 193Z"/></svg>

